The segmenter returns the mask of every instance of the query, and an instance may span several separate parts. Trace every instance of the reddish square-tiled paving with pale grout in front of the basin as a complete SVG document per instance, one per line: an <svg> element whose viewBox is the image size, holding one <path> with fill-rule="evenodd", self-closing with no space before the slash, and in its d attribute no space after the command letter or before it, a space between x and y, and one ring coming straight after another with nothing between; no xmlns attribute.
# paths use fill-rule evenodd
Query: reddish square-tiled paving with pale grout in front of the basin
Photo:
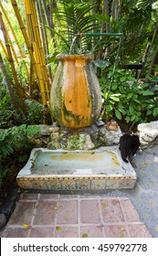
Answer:
<svg viewBox="0 0 158 256"><path fill-rule="evenodd" d="M24 229L24 224L30 225ZM148 238L128 197L26 194L1 237Z"/></svg>

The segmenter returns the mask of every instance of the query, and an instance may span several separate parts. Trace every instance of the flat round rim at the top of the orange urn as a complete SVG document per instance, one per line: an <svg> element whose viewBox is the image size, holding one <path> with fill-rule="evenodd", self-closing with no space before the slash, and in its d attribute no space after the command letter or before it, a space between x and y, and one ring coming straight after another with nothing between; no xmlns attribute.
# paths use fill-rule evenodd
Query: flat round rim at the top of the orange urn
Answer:
<svg viewBox="0 0 158 256"><path fill-rule="evenodd" d="M64 54L59 53L56 56L57 59L64 60L64 59L94 59L93 54Z"/></svg>

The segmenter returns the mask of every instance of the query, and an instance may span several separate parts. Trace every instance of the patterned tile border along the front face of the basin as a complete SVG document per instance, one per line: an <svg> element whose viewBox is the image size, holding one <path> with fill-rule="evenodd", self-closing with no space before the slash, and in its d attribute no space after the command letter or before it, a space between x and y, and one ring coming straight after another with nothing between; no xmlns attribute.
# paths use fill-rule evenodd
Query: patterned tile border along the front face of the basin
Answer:
<svg viewBox="0 0 158 256"><path fill-rule="evenodd" d="M78 190L78 189L120 189L133 188L135 179L123 177L49 177L49 178L17 178L17 184L23 188Z"/></svg>

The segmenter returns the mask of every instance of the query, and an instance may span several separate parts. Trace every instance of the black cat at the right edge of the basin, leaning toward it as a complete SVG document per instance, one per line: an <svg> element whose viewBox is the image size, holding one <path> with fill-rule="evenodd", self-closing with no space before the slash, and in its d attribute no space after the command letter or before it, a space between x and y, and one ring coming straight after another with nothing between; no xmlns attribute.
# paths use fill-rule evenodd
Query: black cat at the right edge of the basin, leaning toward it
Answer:
<svg viewBox="0 0 158 256"><path fill-rule="evenodd" d="M121 158L124 162L129 163L127 157L135 155L140 146L138 135L125 133L121 136L119 149Z"/></svg>

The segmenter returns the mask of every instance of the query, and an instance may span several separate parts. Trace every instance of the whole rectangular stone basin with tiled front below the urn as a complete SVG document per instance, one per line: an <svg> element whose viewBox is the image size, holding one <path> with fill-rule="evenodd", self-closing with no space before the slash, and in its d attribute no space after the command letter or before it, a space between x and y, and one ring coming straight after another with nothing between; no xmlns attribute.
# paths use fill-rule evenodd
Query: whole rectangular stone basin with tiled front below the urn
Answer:
<svg viewBox="0 0 158 256"><path fill-rule="evenodd" d="M16 179L23 188L103 190L133 188L136 174L116 146L91 151L35 148Z"/></svg>

